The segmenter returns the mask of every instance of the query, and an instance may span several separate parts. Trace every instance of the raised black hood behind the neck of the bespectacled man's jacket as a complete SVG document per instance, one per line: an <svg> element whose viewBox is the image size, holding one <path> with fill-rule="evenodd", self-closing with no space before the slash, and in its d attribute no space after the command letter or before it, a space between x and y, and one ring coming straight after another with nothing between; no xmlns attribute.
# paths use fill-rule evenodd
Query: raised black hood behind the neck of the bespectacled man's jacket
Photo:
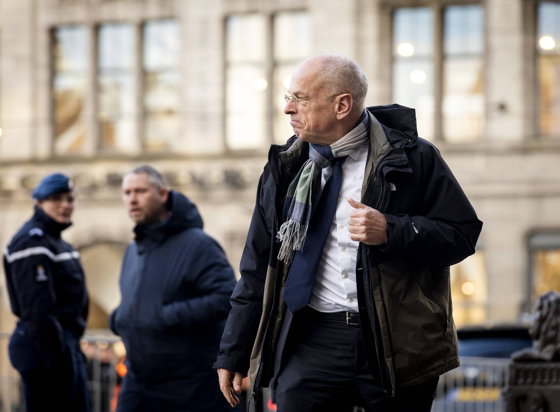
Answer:
<svg viewBox="0 0 560 412"><path fill-rule="evenodd" d="M416 110L398 104L370 106L366 109L381 123L391 147L412 147L418 142Z"/></svg>

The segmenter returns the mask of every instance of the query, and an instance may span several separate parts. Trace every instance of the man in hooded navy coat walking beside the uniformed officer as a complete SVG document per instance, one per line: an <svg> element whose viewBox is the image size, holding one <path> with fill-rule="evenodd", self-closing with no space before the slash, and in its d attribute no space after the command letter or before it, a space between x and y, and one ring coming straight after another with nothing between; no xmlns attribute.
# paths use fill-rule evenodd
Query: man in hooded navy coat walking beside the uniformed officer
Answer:
<svg viewBox="0 0 560 412"><path fill-rule="evenodd" d="M125 175L123 201L137 226L110 317L127 349L117 411L231 410L212 370L235 287L225 254L152 167Z"/></svg>

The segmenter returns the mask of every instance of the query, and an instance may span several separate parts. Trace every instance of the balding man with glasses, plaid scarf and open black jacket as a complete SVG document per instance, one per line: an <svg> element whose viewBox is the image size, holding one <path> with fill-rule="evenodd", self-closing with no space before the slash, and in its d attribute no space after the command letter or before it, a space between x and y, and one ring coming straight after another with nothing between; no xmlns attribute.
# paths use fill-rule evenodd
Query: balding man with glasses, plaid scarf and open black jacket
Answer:
<svg viewBox="0 0 560 412"><path fill-rule="evenodd" d="M305 60L284 113L295 135L260 177L241 280L214 368L232 406L281 412L431 409L459 366L449 266L482 222L414 109L364 107L367 78L342 55Z"/></svg>

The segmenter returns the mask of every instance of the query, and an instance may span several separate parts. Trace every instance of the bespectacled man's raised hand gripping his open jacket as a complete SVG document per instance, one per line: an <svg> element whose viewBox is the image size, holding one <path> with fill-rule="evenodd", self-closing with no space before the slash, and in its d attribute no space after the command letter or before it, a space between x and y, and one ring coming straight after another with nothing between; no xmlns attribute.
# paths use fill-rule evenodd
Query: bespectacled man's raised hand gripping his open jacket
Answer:
<svg viewBox="0 0 560 412"><path fill-rule="evenodd" d="M374 208L348 198L354 208L348 219L350 238L366 245L384 245L387 243L387 219Z"/></svg>

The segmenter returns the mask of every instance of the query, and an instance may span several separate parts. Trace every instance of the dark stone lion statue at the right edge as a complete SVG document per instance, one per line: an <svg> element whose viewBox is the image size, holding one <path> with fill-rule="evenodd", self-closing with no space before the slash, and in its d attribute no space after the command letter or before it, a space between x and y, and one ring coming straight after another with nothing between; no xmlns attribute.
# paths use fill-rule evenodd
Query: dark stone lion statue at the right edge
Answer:
<svg viewBox="0 0 560 412"><path fill-rule="evenodd" d="M560 293L543 293L531 316L533 346L514 352L514 361L560 361Z"/></svg>

